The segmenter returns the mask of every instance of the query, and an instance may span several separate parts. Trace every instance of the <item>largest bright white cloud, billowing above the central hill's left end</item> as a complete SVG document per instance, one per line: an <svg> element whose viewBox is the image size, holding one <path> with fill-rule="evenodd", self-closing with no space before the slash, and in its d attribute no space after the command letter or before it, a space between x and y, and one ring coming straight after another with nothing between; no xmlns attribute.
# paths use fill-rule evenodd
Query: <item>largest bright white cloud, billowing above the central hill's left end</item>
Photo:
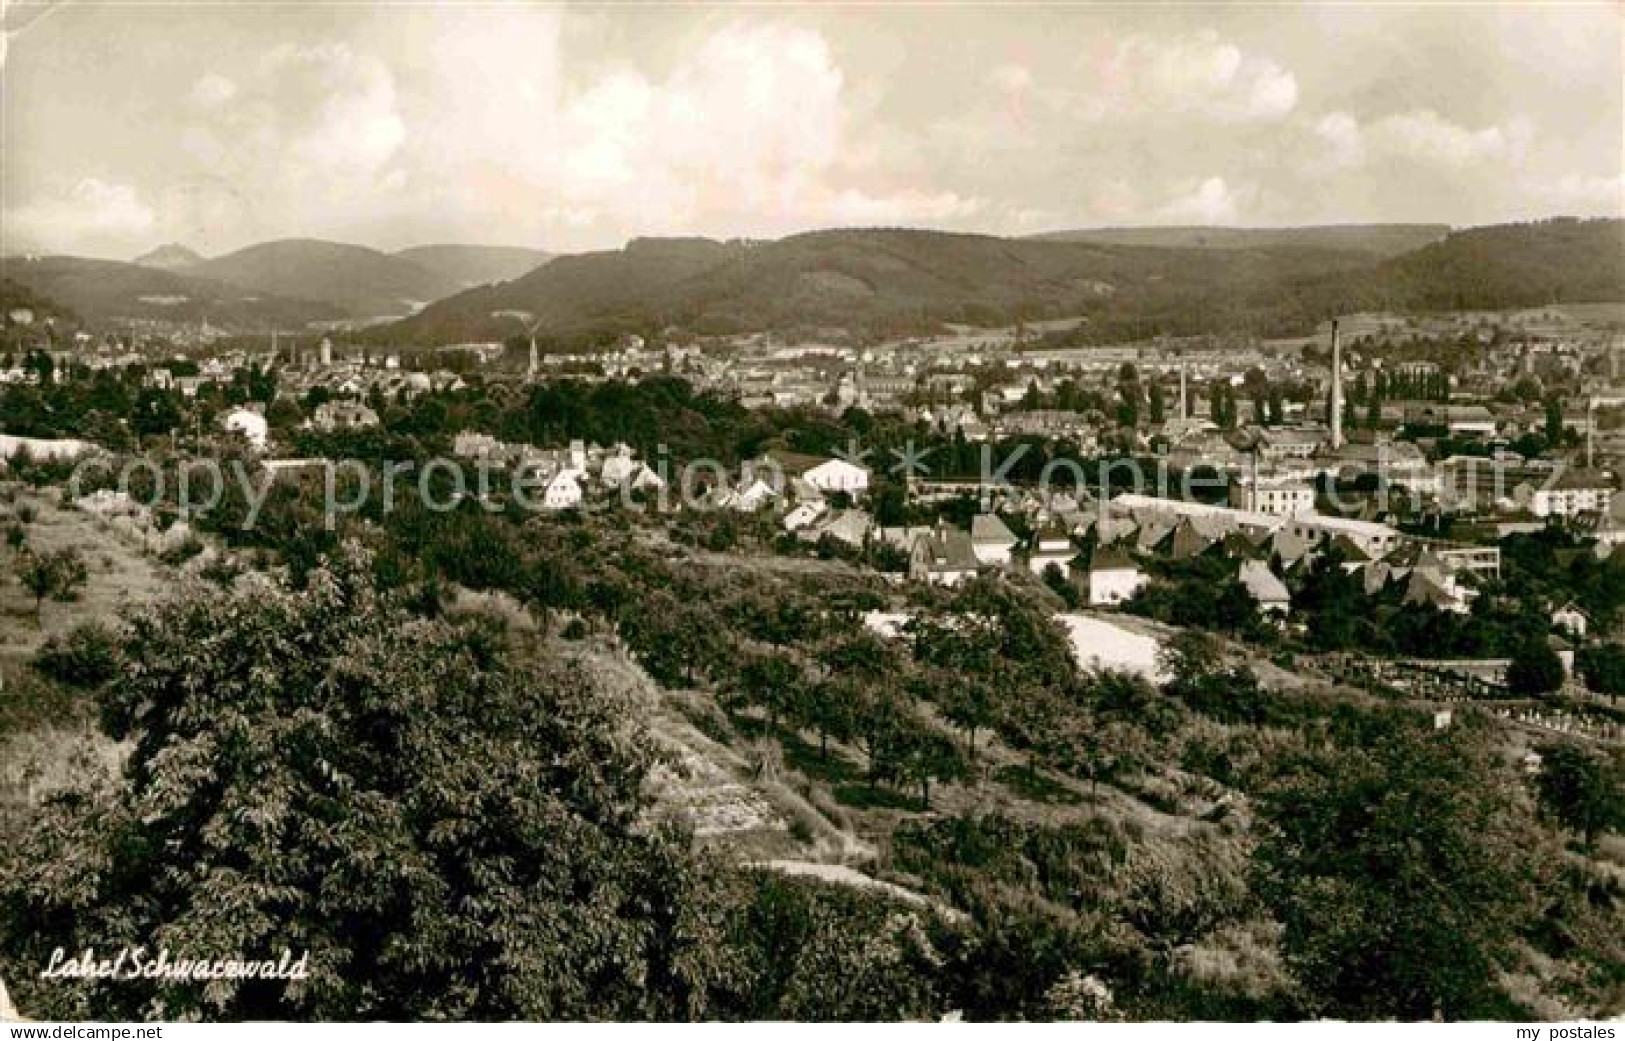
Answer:
<svg viewBox="0 0 1625 1041"><path fill-rule="evenodd" d="M856 169L866 151L852 140L843 88L819 32L728 24L663 78L616 68L567 93L548 119L552 158L517 174L557 211L627 234L778 234L975 213L977 200Z"/></svg>

